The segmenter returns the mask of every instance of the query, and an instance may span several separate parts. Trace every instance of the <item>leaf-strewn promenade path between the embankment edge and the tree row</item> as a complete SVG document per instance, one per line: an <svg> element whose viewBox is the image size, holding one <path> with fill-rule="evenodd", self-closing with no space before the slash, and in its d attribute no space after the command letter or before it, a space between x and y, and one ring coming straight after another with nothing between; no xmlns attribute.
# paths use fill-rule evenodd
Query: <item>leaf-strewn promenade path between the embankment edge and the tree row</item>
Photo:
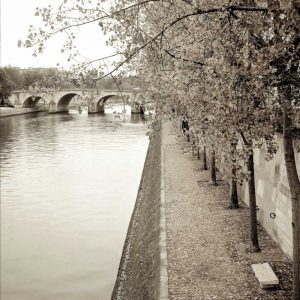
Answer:
<svg viewBox="0 0 300 300"><path fill-rule="evenodd" d="M162 146L169 299L290 299L291 261L260 226L262 251L247 251L248 208L227 208L228 186L209 185L209 172L171 121L163 124ZM259 287L251 269L258 262L270 263L278 289Z"/></svg>

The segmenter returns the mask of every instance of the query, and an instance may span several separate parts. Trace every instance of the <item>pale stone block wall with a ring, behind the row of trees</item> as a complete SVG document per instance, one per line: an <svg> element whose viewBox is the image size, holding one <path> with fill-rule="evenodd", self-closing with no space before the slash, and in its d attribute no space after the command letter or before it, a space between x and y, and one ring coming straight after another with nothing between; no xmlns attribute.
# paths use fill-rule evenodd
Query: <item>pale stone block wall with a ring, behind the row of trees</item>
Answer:
<svg viewBox="0 0 300 300"><path fill-rule="evenodd" d="M279 149L270 161L265 159L265 152L254 151L256 202L258 206L258 221L282 250L292 257L292 203L283 155L282 138L278 137ZM294 147L297 161L298 176L300 176L299 143ZM222 164L222 173L228 174ZM248 199L248 184L238 189L240 199L246 204Z"/></svg>

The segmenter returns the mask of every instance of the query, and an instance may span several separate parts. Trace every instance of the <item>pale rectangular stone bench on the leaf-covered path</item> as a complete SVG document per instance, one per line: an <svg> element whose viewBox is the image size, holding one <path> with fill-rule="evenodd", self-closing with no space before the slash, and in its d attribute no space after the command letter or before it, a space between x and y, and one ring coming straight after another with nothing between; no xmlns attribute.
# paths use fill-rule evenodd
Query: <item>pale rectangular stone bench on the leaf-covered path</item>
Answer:
<svg viewBox="0 0 300 300"><path fill-rule="evenodd" d="M279 284L279 280L269 263L252 264L251 267L259 281L261 288L269 289L276 287Z"/></svg>

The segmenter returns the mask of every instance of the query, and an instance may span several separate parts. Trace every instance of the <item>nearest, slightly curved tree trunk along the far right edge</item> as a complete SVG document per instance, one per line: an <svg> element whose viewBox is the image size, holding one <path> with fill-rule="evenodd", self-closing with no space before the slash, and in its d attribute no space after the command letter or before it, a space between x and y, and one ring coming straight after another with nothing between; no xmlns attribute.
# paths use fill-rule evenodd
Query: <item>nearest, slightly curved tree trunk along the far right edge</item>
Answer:
<svg viewBox="0 0 300 300"><path fill-rule="evenodd" d="M284 95L289 96L289 95ZM283 111L283 148L284 160L292 201L293 230L293 300L300 299L300 182L297 174L293 149L293 124L291 119L291 103L284 99Z"/></svg>

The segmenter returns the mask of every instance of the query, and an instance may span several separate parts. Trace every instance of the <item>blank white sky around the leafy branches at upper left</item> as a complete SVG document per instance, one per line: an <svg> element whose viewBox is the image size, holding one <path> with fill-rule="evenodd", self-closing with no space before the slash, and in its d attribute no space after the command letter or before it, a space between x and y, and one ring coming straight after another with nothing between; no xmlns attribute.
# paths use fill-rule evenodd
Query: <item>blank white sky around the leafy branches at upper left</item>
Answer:
<svg viewBox="0 0 300 300"><path fill-rule="evenodd" d="M20 68L68 66L67 55L60 52L63 36L49 41L42 55L34 57L33 49L18 48L18 40L25 40L29 25L38 26L41 19L34 16L36 7L55 5L62 0L0 0L1 35L0 65ZM87 25L81 29L78 44L80 52L90 60L113 54L105 45L105 37L98 26Z"/></svg>

